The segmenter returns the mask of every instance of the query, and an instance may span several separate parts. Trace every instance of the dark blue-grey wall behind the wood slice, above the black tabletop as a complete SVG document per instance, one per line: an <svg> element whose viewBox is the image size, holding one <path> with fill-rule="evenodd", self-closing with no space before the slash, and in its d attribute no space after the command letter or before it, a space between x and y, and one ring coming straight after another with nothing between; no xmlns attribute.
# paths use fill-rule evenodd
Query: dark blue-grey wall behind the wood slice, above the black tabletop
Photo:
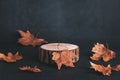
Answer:
<svg viewBox="0 0 120 80"><path fill-rule="evenodd" d="M16 45L16 30L29 29L49 42L120 47L119 21L119 0L0 0L0 44Z"/></svg>

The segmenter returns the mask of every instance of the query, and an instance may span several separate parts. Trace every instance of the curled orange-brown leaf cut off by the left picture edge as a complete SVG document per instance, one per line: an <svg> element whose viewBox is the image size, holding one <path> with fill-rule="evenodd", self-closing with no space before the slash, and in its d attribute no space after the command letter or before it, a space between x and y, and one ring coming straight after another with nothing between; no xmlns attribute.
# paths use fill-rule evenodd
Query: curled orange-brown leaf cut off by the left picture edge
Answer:
<svg viewBox="0 0 120 80"><path fill-rule="evenodd" d="M11 52L8 52L7 56L3 53L0 53L0 60L6 62L16 62L16 60L21 60L21 59L22 56L20 56L18 52L16 52L15 55L13 55Z"/></svg>

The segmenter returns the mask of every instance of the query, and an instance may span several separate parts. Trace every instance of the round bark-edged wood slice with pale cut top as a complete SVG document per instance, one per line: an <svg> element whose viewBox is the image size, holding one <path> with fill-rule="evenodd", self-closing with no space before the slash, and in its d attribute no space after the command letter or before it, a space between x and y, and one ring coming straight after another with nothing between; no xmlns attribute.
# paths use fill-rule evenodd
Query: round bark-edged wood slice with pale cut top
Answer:
<svg viewBox="0 0 120 80"><path fill-rule="evenodd" d="M61 52L64 50L72 51L78 57L73 59L73 63L79 60L79 46L69 43L49 43L40 46L39 60L43 63L54 63L52 60L53 52Z"/></svg>

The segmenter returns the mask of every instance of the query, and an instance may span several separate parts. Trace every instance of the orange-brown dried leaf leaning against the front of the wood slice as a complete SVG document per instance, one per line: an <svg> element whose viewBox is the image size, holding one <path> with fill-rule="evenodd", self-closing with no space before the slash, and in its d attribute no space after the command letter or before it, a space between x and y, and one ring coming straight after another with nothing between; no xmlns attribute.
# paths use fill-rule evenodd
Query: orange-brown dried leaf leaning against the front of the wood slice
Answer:
<svg viewBox="0 0 120 80"><path fill-rule="evenodd" d="M72 51L69 50L53 52L52 55L52 60L55 61L59 70L61 69L62 65L65 65L67 67L74 67L73 59L75 57L78 57Z"/></svg>

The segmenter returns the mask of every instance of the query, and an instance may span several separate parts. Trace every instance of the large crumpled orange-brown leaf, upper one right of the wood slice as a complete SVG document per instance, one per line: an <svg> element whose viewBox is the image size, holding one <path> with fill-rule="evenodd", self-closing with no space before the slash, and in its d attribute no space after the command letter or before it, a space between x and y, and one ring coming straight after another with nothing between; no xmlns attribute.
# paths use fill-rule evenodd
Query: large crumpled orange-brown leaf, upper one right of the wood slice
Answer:
<svg viewBox="0 0 120 80"><path fill-rule="evenodd" d="M90 58L92 60L100 60L103 58L103 61L107 62L112 58L115 58L116 53L112 50L107 49L103 44L95 44L92 48L92 52L94 52L93 56Z"/></svg>

